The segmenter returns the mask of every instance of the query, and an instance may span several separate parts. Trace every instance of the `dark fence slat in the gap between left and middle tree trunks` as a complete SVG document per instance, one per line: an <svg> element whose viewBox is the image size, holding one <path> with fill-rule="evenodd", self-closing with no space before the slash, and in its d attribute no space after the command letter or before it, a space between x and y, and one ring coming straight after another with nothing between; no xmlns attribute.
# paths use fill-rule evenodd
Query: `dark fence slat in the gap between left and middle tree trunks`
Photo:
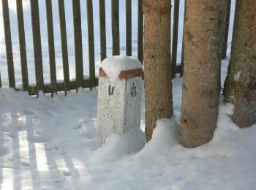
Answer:
<svg viewBox="0 0 256 190"><path fill-rule="evenodd" d="M179 13L179 0L174 1L173 12L173 45L172 45L172 77L176 77L176 65L177 65L177 46L178 46L178 13Z"/></svg>

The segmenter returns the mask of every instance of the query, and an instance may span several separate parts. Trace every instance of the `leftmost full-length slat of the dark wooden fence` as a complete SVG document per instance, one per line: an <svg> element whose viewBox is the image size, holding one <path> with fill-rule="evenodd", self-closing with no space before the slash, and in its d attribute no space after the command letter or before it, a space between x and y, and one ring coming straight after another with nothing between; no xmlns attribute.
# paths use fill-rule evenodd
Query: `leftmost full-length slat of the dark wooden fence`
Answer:
<svg viewBox="0 0 256 190"><path fill-rule="evenodd" d="M3 18L4 18L4 39L7 52L7 67L10 88L15 88L15 73L12 56L12 36L10 28L9 5L7 0L2 0Z"/></svg>

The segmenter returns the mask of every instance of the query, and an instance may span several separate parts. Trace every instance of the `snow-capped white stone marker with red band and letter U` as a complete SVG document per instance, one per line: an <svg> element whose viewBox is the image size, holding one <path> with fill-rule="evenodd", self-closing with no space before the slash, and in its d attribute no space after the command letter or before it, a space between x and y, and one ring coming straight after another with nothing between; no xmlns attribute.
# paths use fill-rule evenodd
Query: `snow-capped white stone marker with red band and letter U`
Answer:
<svg viewBox="0 0 256 190"><path fill-rule="evenodd" d="M129 56L112 56L99 68L97 146L110 134L140 128L142 64Z"/></svg>

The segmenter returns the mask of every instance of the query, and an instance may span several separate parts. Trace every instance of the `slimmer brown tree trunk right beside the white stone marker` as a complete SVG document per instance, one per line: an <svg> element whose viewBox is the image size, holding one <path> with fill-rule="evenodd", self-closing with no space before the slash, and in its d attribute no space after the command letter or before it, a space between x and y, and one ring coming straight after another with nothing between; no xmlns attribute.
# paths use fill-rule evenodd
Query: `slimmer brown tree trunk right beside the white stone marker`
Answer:
<svg viewBox="0 0 256 190"><path fill-rule="evenodd" d="M170 0L144 0L146 139L159 118L173 115L170 68Z"/></svg>

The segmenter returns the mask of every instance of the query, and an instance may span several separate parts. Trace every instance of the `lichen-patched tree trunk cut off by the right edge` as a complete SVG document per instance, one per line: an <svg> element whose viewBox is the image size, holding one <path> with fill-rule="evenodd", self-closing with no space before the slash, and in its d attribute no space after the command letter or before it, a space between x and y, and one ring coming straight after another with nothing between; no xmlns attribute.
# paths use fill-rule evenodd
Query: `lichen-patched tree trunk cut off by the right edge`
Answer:
<svg viewBox="0 0 256 190"><path fill-rule="evenodd" d="M246 127L256 122L256 1L237 0L236 11L224 96L235 104L233 121Z"/></svg>

